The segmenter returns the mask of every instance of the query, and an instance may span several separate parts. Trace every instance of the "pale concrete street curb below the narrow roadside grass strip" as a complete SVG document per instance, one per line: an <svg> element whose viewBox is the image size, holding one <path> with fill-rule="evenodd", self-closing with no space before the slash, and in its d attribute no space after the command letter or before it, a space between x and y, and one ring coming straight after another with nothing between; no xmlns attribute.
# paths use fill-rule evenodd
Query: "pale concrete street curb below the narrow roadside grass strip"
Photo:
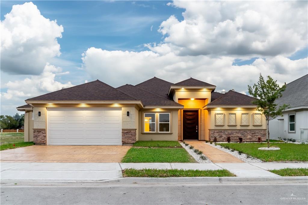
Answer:
<svg viewBox="0 0 308 205"><path fill-rule="evenodd" d="M274 177L125 177L101 180L103 183L308 183L308 176L274 176Z"/></svg>

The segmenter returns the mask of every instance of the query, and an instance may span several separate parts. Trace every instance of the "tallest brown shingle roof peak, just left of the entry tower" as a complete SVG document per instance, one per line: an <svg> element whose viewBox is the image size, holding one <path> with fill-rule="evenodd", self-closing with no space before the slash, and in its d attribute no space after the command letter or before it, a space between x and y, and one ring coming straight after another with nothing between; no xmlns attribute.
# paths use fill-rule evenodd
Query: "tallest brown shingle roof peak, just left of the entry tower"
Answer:
<svg viewBox="0 0 308 205"><path fill-rule="evenodd" d="M143 90L147 90L151 93L158 94L165 99L170 99L170 97L168 96L168 91L171 85L173 85L172 82L168 82L163 79L154 77L135 86Z"/></svg>

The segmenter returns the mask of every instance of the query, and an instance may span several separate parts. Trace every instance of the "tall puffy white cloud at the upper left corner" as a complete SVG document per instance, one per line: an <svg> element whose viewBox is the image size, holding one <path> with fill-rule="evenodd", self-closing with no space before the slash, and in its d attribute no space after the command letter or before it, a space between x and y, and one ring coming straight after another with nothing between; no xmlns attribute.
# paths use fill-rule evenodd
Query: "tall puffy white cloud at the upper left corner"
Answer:
<svg viewBox="0 0 308 205"><path fill-rule="evenodd" d="M40 74L46 62L60 55L57 38L63 26L41 15L32 2L14 5L1 21L1 70Z"/></svg>

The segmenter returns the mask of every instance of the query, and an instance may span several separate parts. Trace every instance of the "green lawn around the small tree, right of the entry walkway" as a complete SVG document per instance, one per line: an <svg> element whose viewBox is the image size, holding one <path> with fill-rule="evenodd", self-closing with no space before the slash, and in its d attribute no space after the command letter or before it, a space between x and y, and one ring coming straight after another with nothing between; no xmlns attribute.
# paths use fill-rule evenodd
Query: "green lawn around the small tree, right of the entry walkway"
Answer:
<svg viewBox="0 0 308 205"><path fill-rule="evenodd" d="M219 143L218 143L219 144ZM223 143L222 147L242 151L243 153L261 159L264 162L274 161L308 161L308 145L292 143L271 143L270 146L280 147L280 150L258 150L266 147L266 143Z"/></svg>

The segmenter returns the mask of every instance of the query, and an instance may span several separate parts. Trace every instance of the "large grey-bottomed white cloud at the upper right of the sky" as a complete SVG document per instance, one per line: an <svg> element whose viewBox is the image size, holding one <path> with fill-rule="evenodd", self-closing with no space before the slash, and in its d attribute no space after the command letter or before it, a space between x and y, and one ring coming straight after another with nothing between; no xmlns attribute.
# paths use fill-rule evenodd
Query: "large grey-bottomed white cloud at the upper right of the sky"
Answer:
<svg viewBox="0 0 308 205"><path fill-rule="evenodd" d="M158 31L165 38L158 46L170 46L179 55L288 56L307 46L307 2L174 1L168 5L184 8L184 20L172 15L163 21Z"/></svg>

